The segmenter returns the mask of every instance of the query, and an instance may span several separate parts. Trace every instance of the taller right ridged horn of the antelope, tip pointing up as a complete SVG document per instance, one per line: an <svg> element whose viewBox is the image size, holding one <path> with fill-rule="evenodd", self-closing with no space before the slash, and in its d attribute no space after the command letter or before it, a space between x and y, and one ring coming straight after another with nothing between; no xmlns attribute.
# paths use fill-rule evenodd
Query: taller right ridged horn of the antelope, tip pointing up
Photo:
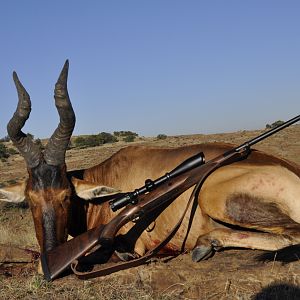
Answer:
<svg viewBox="0 0 300 300"><path fill-rule="evenodd" d="M55 84L54 98L60 122L48 141L44 152L47 164L58 166L65 163L65 154L75 126L75 114L70 102L67 79L69 61L65 65Z"/></svg>

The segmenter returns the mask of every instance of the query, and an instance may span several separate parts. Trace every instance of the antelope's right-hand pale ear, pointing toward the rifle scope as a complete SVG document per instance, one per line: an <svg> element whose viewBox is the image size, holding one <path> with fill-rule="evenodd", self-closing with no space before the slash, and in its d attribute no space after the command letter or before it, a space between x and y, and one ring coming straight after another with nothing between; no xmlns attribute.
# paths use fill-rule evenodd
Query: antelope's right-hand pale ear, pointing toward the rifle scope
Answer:
<svg viewBox="0 0 300 300"><path fill-rule="evenodd" d="M71 179L77 196L85 200L119 194L121 191L98 183L72 177Z"/></svg>

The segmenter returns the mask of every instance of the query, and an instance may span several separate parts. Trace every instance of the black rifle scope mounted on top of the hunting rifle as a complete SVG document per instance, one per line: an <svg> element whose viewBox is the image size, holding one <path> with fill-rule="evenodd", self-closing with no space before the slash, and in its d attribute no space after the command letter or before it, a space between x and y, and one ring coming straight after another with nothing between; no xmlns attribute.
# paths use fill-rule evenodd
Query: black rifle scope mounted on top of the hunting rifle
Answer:
<svg viewBox="0 0 300 300"><path fill-rule="evenodd" d="M133 192L126 193L125 195L122 195L121 197L111 200L109 202L110 208L113 211L117 211L118 209L128 205L128 204L136 204L138 202L138 196L148 193L161 184L167 182L170 179L173 179L176 176L179 176L187 171L190 171L200 165L203 165L205 163L205 157L203 152L197 153L194 156L189 157L184 162L182 162L179 166L177 166L172 171L166 173L162 177L159 177L156 180L146 179L145 185L134 190Z"/></svg>

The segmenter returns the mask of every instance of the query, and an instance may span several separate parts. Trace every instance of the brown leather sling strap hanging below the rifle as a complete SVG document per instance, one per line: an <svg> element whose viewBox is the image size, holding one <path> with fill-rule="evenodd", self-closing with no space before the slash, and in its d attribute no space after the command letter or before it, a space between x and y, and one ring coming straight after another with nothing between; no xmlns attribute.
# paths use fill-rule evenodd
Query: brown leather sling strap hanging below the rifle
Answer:
<svg viewBox="0 0 300 300"><path fill-rule="evenodd" d="M194 205L193 207L197 204L195 202L197 202L197 199L198 199L198 194L199 194L199 190L203 184L204 180L200 180L197 185L195 186L188 202L187 202L187 205L185 207L185 210L183 212L183 214L181 215L179 221L177 222L177 224L173 227L173 229L171 230L171 232L167 235L167 237L165 237L165 239L160 243L158 244L156 247L154 247L153 249L149 250L146 252L146 254L142 257L139 257L139 258L136 258L136 259L133 259L133 260L130 260L130 261L125 261L125 262L118 262L118 263L113 263L113 265L109 265L109 266L105 266L104 264L104 267L98 269L98 270L95 270L95 271L88 271L88 272L82 272L82 271L79 271L78 270L78 265L79 265L79 261L78 260L75 260L74 262L72 262L71 264L71 269L72 271L74 272L74 274L79 278L79 279L90 279L90 278L95 278L95 277L100 277L100 276L105 276L105 275L109 275L109 274L112 274L114 272L118 272L118 271L121 271L121 270L125 270L125 269L129 269L129 268L132 268L132 267L137 267L137 266L140 266L144 263L146 263L147 261L150 260L150 258L154 257L155 255L158 254L158 252L163 248L165 247L168 242L174 237L174 235L176 234L176 232L178 231L187 211L188 211L188 208L190 207L191 203L193 202ZM192 214L194 215L194 214ZM191 227L191 222L192 220L190 220L190 226L188 228L188 231L186 233L186 238L184 239L184 243L187 239L187 235L189 234L189 229ZM181 252L184 250L184 244L183 244L183 247L181 248Z"/></svg>

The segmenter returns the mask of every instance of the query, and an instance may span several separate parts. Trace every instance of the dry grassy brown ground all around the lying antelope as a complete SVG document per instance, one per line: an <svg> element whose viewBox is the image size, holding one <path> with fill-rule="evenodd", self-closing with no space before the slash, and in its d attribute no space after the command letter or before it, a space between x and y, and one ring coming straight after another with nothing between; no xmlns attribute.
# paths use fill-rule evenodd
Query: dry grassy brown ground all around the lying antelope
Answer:
<svg viewBox="0 0 300 300"><path fill-rule="evenodd" d="M139 138L134 144L176 147L202 142L241 144L261 131ZM255 148L300 164L300 125L287 128ZM128 144L118 142L67 152L69 170L95 165ZM0 183L26 178L23 159L0 162ZM0 299L300 299L300 247L278 253L227 249L193 263L190 254L104 278L74 275L48 283L36 273L38 251L30 211L0 206ZM24 249L27 249L26 251ZM289 250L289 251L288 251Z"/></svg>

